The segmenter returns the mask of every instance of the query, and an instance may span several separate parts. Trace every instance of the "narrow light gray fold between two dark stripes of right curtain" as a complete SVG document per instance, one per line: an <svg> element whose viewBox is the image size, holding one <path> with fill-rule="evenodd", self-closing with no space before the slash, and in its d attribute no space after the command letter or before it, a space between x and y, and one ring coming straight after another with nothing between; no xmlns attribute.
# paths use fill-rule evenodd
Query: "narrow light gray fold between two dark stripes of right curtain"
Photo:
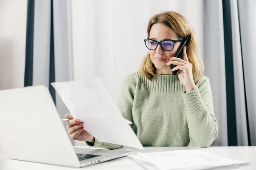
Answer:
<svg viewBox="0 0 256 170"><path fill-rule="evenodd" d="M230 11L231 11L231 28L232 28L232 47L233 51L233 81L234 81L234 101L233 106L235 109L236 124L234 124L234 129L236 129L237 143L234 146L248 146L250 138L248 140L247 136L247 120L246 120L246 102L245 102L245 91L244 91L244 69L242 64L242 51L241 51L241 40L240 40L240 26L239 26L239 11L236 1L230 1ZM230 61L231 62L231 61ZM231 126L230 126L231 127ZM231 127L230 133L233 132L233 127ZM250 131L248 131L250 132Z"/></svg>

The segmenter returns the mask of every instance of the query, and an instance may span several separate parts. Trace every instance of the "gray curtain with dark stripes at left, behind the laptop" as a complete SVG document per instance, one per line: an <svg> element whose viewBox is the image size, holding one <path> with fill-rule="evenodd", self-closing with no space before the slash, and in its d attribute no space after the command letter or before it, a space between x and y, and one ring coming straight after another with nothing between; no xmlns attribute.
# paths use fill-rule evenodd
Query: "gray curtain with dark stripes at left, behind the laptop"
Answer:
<svg viewBox="0 0 256 170"><path fill-rule="evenodd" d="M50 83L73 80L68 2L28 0L27 10L24 86L47 86L63 119L69 111Z"/></svg>

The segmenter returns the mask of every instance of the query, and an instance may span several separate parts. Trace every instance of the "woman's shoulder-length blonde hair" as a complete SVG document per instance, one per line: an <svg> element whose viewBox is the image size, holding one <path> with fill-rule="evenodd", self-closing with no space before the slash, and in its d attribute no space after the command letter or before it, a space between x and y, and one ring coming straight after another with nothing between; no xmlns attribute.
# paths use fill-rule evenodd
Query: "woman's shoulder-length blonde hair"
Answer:
<svg viewBox="0 0 256 170"><path fill-rule="evenodd" d="M186 18L174 11L166 11L154 15L153 17L151 17L148 23L148 38L151 27L156 23L166 25L174 30L180 40L184 40L186 37L189 37L189 43L187 45L187 55L189 62L192 64L194 81L197 82L204 74L204 64L198 55L198 44L195 37L195 32L189 25ZM146 54L145 58L141 63L140 74L149 80L151 80L152 77L156 77L156 68L151 62L149 53Z"/></svg>

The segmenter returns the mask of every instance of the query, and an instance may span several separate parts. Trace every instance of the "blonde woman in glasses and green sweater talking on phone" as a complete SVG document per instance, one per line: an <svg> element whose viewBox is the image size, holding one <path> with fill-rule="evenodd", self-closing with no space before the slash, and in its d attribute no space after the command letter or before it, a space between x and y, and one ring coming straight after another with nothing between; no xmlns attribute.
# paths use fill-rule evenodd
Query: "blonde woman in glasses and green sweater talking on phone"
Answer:
<svg viewBox="0 0 256 170"><path fill-rule="evenodd" d="M147 32L144 41L149 52L140 71L123 82L119 110L133 122L143 146L208 147L217 136L218 123L194 31L182 15L167 11L150 19ZM174 57L186 37L189 42L183 48L183 59ZM171 70L169 65L177 66ZM92 147L122 147L97 141L83 130L83 122L70 114L65 117L70 119L67 128L72 139Z"/></svg>

